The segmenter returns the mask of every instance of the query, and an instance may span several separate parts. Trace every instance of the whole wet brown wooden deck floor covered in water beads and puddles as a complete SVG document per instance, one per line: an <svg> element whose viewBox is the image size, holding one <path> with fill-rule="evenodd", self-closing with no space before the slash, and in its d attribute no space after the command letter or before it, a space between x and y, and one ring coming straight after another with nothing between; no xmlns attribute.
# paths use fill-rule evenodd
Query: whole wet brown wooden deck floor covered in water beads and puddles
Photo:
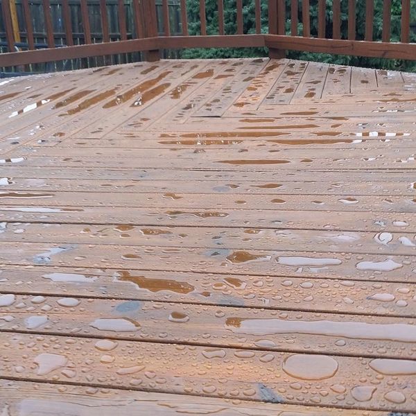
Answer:
<svg viewBox="0 0 416 416"><path fill-rule="evenodd" d="M416 412L416 74L161 61L0 94L0 415Z"/></svg>

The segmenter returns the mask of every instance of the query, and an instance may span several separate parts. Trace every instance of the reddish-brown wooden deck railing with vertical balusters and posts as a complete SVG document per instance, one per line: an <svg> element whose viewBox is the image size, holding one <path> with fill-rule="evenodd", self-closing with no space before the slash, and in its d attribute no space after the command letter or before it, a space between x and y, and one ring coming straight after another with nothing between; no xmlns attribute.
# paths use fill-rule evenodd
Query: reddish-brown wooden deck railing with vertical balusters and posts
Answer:
<svg viewBox="0 0 416 416"><path fill-rule="evenodd" d="M392 0L382 1L381 39L374 34L374 0L365 1L365 35L356 37L357 0L236 0L233 9L235 33L226 30L223 0L200 0L199 24L189 22L187 0L179 0L182 33L172 33L171 3L161 0L130 0L132 24L127 30L125 0L116 0L116 14L119 26L119 40L112 42L108 21L107 0L97 0L101 21L101 38L92 37L91 15L87 0L78 0L80 5L80 30L83 44L74 44L70 0L53 0L60 6L61 24L64 28L63 45L55 44L54 21L51 15L51 0L42 0L46 46L36 49L33 32L31 0L21 0L23 21L17 21L13 10L15 0L1 0L3 31L6 35L7 53L0 54L0 67L34 64L73 58L112 55L142 51L146 60L158 60L162 49L184 48L239 48L262 47L269 49L272 58L283 57L287 50L361 55L379 58L416 60L416 43L412 42L410 30L411 0L401 0L400 42L392 42ZM73 0L71 0L73 2ZM114 0L111 0L114 3ZM267 1L267 3L264 3ZM214 2L214 3L213 3ZM250 32L245 28L245 8L254 8ZM413 3L414 4L414 3ZM207 6L209 12L207 13ZM214 6L214 12L212 12ZM159 9L158 15L157 9ZM331 9L331 10L329 10ZM347 36L341 36L342 14L347 10ZM229 11L229 10L228 10ZM193 11L193 17L195 12ZM213 31L213 18L216 22ZM228 13L229 15L229 13ZM311 16L317 19L317 30L311 31ZM208 19L207 19L208 18ZM345 19L344 19L345 20ZM209 21L209 30L207 27ZM159 24L158 24L159 23ZM193 23L193 24L191 24ZM197 25L195 25L197 23ZM159 26L159 28L158 28ZM162 27L160 27L162 26ZM198 30L196 30L196 27ZM161 33L162 31L162 33ZM79 33L78 33L79 35ZM17 41L23 36L28 51L16 51ZM17 39L17 37L19 39ZM59 47L58 47L59 46Z"/></svg>

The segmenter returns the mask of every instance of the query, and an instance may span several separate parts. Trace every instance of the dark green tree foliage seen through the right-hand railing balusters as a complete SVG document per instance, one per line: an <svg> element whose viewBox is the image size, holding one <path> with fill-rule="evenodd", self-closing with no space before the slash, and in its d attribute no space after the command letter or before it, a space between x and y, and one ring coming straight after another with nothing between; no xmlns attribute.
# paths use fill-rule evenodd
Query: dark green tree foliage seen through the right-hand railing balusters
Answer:
<svg viewBox="0 0 416 416"><path fill-rule="evenodd" d="M218 34L218 1L206 0L207 34ZM291 10L286 0L286 33L290 34ZM326 37L332 37L333 13L332 0L326 0ZM416 0L411 0L410 21L416 26ZM223 0L225 34L236 33L236 0ZM310 1L311 36L318 33L318 0ZM189 35L200 34L200 1L187 0ZM298 21L302 22L302 0L299 0ZM244 33L255 33L254 0L243 0L243 28ZM392 0L391 41L399 42L401 32L401 0ZM416 27L411 30L411 42L416 42ZM341 37L347 39L348 30L348 2L341 1ZM298 24L298 32L302 35L302 23ZM261 32L268 33L268 1L261 0ZM374 0L373 40L381 40L383 32L383 0ZM356 1L356 39L363 40L365 36L365 1ZM228 48L228 49L188 49L182 52L182 58L243 58L267 56L266 48ZM335 64L349 64L358 67L375 67L383 69L401 69L416 71L415 62L382 58L364 58L349 55L331 55L328 53L309 53L302 51L288 51L288 58L300 60L315 60Z"/></svg>

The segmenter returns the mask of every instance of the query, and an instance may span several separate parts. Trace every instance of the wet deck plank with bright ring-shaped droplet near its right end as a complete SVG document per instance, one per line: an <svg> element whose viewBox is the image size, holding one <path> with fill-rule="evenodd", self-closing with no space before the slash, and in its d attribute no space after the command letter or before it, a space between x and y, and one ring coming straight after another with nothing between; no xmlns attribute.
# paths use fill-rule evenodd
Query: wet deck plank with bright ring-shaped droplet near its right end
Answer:
<svg viewBox="0 0 416 416"><path fill-rule="evenodd" d="M62 243L62 234L71 244L98 243L105 245L155 245L157 247L229 248L232 250L286 251L302 245L305 251L352 252L355 254L413 255L416 240L406 232L328 232L321 230L261 229L204 227L133 227L108 224L53 225L51 223L4 223L0 241L26 243ZM189 232L191 231L191 234Z"/></svg>

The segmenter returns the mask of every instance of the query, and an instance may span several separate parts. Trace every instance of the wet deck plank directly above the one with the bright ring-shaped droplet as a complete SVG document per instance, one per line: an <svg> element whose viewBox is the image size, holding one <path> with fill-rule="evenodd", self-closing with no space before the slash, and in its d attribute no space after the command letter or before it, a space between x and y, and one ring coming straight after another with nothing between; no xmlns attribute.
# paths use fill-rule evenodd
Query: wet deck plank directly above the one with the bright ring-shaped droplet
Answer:
<svg viewBox="0 0 416 416"><path fill-rule="evenodd" d="M53 224L116 224L132 226L184 227L259 227L265 229L326 229L352 232L416 232L416 214L383 212L376 216L361 211L264 210L264 209L187 209L155 207L112 207L110 217L106 207L83 208L62 206L0 205L0 220L7 222ZM3 227L2 227L3 228Z"/></svg>

